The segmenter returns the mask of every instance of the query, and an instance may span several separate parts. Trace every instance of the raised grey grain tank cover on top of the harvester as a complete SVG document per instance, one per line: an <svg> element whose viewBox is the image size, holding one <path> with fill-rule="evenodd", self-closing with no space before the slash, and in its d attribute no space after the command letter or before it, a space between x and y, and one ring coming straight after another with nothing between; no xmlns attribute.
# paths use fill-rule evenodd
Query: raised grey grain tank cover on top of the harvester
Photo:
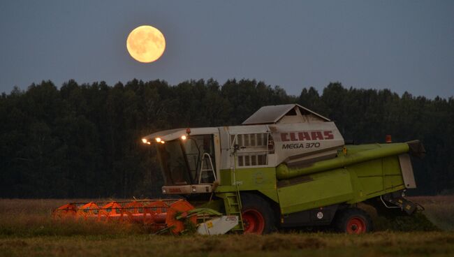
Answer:
<svg viewBox="0 0 454 257"><path fill-rule="evenodd" d="M296 103L263 106L243 125L330 122L330 119Z"/></svg>

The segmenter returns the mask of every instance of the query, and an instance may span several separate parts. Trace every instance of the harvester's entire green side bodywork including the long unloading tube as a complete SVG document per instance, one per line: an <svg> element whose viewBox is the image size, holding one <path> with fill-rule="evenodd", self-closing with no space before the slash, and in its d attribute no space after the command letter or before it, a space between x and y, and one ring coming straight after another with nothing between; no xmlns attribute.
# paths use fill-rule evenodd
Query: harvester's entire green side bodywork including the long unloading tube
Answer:
<svg viewBox="0 0 454 257"><path fill-rule="evenodd" d="M351 145L337 157L304 168L242 168L221 170L215 193L260 191L279 204L281 214L333 205L359 203L405 189L398 154L409 151L405 143ZM235 186L234 178L237 182ZM277 179L281 179L278 180ZM279 186L278 186L279 184Z"/></svg>

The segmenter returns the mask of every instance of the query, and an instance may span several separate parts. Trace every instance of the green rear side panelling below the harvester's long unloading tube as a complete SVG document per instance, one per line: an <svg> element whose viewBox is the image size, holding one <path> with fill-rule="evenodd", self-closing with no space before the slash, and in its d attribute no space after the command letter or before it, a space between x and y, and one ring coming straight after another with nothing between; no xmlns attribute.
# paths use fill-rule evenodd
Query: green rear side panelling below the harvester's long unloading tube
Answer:
<svg viewBox="0 0 454 257"><path fill-rule="evenodd" d="M277 190L282 214L336 203L360 203L404 189L397 156L388 156L345 168L308 175L305 182Z"/></svg>

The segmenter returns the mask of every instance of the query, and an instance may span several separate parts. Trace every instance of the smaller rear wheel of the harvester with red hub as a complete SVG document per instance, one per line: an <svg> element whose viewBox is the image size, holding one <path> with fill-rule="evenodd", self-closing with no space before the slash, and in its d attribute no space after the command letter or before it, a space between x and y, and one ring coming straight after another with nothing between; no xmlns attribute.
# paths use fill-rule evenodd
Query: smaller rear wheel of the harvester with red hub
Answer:
<svg viewBox="0 0 454 257"><path fill-rule="evenodd" d="M369 214L356 207L337 211L334 225L338 232L346 234L359 235L373 230Z"/></svg>

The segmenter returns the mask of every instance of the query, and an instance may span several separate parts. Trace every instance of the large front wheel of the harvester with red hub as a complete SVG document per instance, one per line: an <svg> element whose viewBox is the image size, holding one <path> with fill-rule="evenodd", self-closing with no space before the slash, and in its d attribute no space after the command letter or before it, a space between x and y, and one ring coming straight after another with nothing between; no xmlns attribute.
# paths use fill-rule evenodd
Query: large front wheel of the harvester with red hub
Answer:
<svg viewBox="0 0 454 257"><path fill-rule="evenodd" d="M242 193L241 202L244 234L263 235L276 229L274 212L265 199L252 193Z"/></svg>

